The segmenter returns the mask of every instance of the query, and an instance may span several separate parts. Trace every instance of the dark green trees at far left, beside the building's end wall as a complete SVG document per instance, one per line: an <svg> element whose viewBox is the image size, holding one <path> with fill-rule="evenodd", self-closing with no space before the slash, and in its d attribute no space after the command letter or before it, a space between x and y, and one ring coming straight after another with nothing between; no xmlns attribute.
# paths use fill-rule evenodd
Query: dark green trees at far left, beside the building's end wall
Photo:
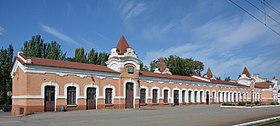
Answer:
<svg viewBox="0 0 280 126"><path fill-rule="evenodd" d="M7 96L8 91L12 91L12 78L10 72L14 63L14 49L9 45L7 49L0 50L0 101L2 104L11 104L11 97ZM0 103L1 104L1 103Z"/></svg>

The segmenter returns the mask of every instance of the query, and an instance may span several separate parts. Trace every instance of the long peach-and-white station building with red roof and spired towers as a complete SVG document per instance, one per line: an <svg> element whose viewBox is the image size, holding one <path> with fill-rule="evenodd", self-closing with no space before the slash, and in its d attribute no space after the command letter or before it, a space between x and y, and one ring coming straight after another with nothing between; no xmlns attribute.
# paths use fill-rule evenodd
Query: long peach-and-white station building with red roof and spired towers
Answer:
<svg viewBox="0 0 280 126"><path fill-rule="evenodd" d="M12 115L86 109L216 104L277 99L277 79L251 77L247 68L237 81L172 75L163 60L154 72L140 71L141 61L122 36L107 66L50 60L19 52L11 72ZM276 94L275 94L276 91Z"/></svg>

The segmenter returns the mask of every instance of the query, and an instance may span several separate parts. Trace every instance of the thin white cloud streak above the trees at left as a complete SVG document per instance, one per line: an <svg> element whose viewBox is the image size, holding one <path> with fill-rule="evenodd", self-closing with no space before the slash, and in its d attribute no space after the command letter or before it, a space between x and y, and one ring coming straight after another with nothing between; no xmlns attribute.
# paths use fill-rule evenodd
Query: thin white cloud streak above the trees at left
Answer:
<svg viewBox="0 0 280 126"><path fill-rule="evenodd" d="M43 31L59 38L60 40L62 40L63 42L69 43L69 44L75 44L75 45L79 45L78 42L76 42L74 39L72 39L71 37L67 36L66 34L59 32L58 30L56 30L53 27L50 27L48 25L44 25L41 24L41 28Z"/></svg>

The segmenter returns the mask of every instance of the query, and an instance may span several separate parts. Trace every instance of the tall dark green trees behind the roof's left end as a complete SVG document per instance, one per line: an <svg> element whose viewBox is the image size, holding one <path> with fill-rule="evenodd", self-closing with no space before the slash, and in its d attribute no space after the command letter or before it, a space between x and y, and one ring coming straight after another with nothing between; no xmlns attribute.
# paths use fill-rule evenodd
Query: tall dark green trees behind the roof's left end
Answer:
<svg viewBox="0 0 280 126"><path fill-rule="evenodd" d="M65 60L66 52L62 52L61 46L56 41L45 43L40 35L32 36L25 41L22 51L26 56Z"/></svg>

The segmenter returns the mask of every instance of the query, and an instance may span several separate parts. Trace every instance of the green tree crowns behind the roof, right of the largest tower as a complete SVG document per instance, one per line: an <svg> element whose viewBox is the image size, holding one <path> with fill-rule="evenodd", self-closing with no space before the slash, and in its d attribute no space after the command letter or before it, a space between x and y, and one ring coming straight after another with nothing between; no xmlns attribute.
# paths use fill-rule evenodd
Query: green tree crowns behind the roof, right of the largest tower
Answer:
<svg viewBox="0 0 280 126"><path fill-rule="evenodd" d="M150 71L154 71L157 68L159 60L160 58L150 63ZM170 55L169 57L164 57L163 60L170 72L175 75L191 76L194 73L200 74L204 69L202 62L192 58L184 59L176 55Z"/></svg>

